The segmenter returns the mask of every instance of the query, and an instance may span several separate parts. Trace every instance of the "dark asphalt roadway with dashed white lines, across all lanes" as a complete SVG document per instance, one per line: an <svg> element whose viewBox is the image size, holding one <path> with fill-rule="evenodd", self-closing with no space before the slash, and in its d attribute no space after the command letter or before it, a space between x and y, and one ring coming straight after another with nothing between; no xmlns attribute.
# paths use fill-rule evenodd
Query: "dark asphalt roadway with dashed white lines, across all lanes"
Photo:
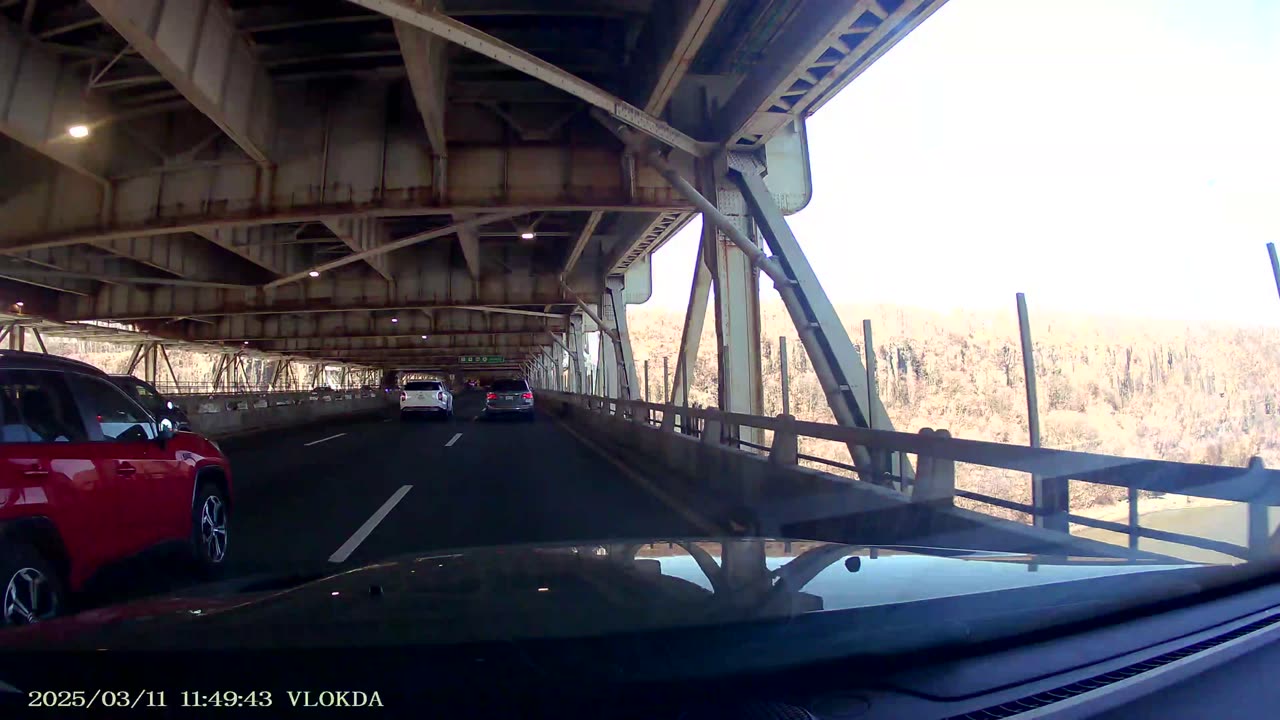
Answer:
<svg viewBox="0 0 1280 720"><path fill-rule="evenodd" d="M224 577L338 571L403 553L477 544L690 537L680 512L558 421L385 416L227 441L234 506ZM84 606L198 582L177 557L100 578Z"/></svg>

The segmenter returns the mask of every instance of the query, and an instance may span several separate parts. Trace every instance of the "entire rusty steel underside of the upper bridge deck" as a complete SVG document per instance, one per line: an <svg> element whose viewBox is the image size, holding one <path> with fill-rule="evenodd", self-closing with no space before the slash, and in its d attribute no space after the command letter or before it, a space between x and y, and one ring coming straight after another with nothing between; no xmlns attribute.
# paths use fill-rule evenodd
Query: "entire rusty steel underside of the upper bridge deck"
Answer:
<svg viewBox="0 0 1280 720"><path fill-rule="evenodd" d="M940 4L0 3L0 305L310 360L518 364L568 328L566 286L599 302L692 217L599 97L758 150Z"/></svg>

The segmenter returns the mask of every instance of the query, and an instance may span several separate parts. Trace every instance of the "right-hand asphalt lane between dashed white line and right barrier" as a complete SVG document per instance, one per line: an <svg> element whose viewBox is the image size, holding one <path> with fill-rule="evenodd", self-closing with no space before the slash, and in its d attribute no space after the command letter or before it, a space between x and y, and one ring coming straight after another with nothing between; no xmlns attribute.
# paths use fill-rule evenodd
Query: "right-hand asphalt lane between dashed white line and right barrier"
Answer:
<svg viewBox="0 0 1280 720"><path fill-rule="evenodd" d="M401 447L394 464L398 482L394 488L384 487L383 501L402 486L411 489L348 562L477 544L705 532L705 524L667 505L545 415L532 423L463 420L451 430L434 447ZM445 447L449 439L453 443ZM353 525L352 532L358 528Z"/></svg>

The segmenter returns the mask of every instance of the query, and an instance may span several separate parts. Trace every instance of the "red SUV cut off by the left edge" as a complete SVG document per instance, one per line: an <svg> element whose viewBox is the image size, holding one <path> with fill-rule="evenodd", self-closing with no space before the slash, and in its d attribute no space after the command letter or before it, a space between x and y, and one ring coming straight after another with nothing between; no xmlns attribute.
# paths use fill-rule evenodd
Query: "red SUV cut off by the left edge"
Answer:
<svg viewBox="0 0 1280 720"><path fill-rule="evenodd" d="M92 365L0 351L0 626L52 618L96 571L169 542L227 561L230 465Z"/></svg>

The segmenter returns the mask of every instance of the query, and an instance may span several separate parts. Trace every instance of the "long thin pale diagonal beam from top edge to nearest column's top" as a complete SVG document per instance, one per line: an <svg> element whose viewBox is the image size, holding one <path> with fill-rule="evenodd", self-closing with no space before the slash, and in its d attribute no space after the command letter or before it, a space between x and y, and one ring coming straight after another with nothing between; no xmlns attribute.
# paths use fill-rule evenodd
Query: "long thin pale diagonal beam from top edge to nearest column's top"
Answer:
<svg viewBox="0 0 1280 720"><path fill-rule="evenodd" d="M408 0L348 0L356 5L369 8L393 19L408 23L436 35L449 42L461 45L467 50L479 53L493 60L520 70L530 77L538 78L570 95L594 105L628 126L649 135L672 147L678 147L695 156L705 155L710 151L708 143L699 142L692 137L677 131L663 120L654 118L640 108L622 101L599 87L557 68L556 65L536 58L515 45L503 42L492 35L480 32L466 23L458 22L447 15L425 10Z"/></svg>

